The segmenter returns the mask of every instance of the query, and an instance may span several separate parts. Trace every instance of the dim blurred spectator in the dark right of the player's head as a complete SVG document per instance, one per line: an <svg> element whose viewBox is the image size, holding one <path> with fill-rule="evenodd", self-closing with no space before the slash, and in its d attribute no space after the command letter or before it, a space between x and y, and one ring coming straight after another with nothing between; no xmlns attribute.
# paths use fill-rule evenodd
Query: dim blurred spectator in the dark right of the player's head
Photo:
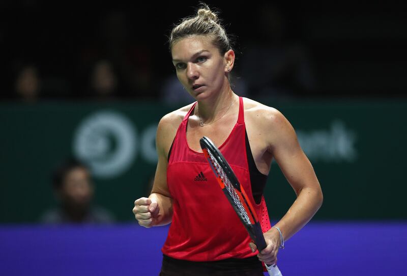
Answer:
<svg viewBox="0 0 407 276"><path fill-rule="evenodd" d="M309 54L289 38L287 22L274 4L258 5L257 26L243 48L241 75L253 97L292 98L315 88Z"/></svg>

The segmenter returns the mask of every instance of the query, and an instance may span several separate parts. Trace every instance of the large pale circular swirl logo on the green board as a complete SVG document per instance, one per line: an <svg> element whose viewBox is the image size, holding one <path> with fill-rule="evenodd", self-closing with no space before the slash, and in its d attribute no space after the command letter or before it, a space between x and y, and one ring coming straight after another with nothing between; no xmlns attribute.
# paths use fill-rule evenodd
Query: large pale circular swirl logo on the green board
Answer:
<svg viewBox="0 0 407 276"><path fill-rule="evenodd" d="M74 133L73 151L100 178L125 172L136 157L134 124L124 115L100 111L85 118Z"/></svg>

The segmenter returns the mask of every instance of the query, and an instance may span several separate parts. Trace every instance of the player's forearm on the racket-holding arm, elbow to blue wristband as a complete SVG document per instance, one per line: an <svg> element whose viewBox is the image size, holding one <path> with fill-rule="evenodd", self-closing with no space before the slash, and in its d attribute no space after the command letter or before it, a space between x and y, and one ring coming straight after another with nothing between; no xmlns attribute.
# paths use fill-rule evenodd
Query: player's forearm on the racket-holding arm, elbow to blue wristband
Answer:
<svg viewBox="0 0 407 276"><path fill-rule="evenodd" d="M284 240L288 240L300 231L318 211L322 202L321 189L303 188L287 213L274 225L280 228ZM274 230L277 229L274 228Z"/></svg>

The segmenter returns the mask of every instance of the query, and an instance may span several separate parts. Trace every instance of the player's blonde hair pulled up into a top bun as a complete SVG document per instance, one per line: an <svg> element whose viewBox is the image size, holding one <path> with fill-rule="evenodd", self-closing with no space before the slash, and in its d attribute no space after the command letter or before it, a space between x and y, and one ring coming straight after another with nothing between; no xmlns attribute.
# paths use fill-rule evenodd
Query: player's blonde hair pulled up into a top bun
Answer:
<svg viewBox="0 0 407 276"><path fill-rule="evenodd" d="M219 49L220 54L224 54L232 49L230 39L226 35L224 27L221 25L217 12L212 12L207 4L199 2L200 7L195 16L182 19L173 27L168 38L169 51L172 46L183 38L191 36L208 36L212 43Z"/></svg>

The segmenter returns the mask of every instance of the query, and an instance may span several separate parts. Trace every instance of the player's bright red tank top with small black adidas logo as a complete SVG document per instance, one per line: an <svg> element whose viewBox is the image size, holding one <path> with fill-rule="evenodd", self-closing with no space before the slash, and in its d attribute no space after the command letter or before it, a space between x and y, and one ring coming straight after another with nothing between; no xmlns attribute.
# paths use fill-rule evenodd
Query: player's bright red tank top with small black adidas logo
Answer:
<svg viewBox="0 0 407 276"><path fill-rule="evenodd" d="M238 121L218 148L243 185L266 232L271 226L264 197L256 204L252 196L243 98L239 100ZM195 105L196 102L177 130L168 160L167 185L173 198L173 215L162 253L189 261L255 256L248 246L249 234L223 194L205 156L188 146L187 123Z"/></svg>

